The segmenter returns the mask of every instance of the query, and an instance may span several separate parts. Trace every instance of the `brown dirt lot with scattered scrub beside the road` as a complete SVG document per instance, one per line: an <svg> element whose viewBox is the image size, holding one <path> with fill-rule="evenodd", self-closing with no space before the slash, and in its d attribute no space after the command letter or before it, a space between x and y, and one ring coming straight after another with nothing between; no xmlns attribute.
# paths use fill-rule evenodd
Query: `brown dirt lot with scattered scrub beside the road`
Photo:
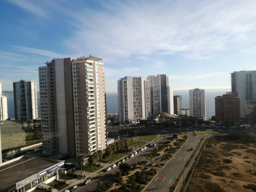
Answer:
<svg viewBox="0 0 256 192"><path fill-rule="evenodd" d="M187 191L256 191L255 136L243 137L212 138Z"/></svg>

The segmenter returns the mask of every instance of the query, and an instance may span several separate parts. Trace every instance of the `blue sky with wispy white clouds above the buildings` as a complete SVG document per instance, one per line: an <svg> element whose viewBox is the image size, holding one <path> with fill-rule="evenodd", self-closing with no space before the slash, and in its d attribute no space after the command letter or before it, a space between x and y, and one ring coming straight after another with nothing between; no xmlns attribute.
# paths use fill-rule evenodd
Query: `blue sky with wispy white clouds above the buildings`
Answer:
<svg viewBox="0 0 256 192"><path fill-rule="evenodd" d="M231 72L256 70L255 10L241 0L2 0L2 88L38 84L52 58L92 55L103 59L107 92L124 76L157 74L174 90L229 90Z"/></svg>

